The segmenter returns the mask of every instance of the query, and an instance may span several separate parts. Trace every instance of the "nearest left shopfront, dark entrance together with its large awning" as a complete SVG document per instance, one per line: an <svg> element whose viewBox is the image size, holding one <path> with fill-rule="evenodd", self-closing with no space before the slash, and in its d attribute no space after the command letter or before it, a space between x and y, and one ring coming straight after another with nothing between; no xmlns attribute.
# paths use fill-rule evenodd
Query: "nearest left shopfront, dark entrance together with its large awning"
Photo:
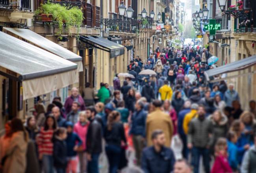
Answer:
<svg viewBox="0 0 256 173"><path fill-rule="evenodd" d="M0 32L0 129L4 120L26 115L27 99L78 82L78 65Z"/></svg>

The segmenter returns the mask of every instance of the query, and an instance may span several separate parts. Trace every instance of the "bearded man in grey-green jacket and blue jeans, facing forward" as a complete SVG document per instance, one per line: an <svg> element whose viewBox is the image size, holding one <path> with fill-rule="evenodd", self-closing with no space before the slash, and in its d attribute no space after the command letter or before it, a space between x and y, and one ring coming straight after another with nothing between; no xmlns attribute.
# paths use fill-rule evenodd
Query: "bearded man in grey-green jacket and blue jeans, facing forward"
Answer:
<svg viewBox="0 0 256 173"><path fill-rule="evenodd" d="M210 154L209 146L212 144L211 134L213 132L213 124L211 120L205 117L206 110L204 105L198 107L198 117L189 123L189 133L187 138L187 147L192 149L192 164L194 173L199 173L200 156L203 156L204 172L210 172Z"/></svg>

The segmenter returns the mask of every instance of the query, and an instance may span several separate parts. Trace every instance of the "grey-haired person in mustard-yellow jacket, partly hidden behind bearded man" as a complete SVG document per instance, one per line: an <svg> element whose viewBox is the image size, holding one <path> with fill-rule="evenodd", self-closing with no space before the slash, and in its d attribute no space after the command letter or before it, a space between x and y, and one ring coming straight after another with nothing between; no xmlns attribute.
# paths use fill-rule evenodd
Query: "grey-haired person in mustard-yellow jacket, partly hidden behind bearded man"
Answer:
<svg viewBox="0 0 256 173"><path fill-rule="evenodd" d="M189 123L193 118L196 118L197 115L197 110L198 110L198 104L193 103L190 107L191 111L187 113L184 117L183 120L183 131L185 134L188 134L189 132Z"/></svg>

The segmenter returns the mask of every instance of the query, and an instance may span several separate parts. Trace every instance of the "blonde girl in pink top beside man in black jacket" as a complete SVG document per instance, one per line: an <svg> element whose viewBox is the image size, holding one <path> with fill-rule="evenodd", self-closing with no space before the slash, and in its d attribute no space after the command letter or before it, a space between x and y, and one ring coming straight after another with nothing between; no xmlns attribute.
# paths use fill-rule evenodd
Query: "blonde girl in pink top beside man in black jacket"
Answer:
<svg viewBox="0 0 256 173"><path fill-rule="evenodd" d="M78 115L78 122L74 126L74 132L77 133L80 139L82 140L82 147L78 148L78 151L77 151L81 173L86 171L86 165L87 165L85 150L86 150L86 135L87 135L89 124L90 124L90 121L86 116L86 112L85 111L80 112Z"/></svg>

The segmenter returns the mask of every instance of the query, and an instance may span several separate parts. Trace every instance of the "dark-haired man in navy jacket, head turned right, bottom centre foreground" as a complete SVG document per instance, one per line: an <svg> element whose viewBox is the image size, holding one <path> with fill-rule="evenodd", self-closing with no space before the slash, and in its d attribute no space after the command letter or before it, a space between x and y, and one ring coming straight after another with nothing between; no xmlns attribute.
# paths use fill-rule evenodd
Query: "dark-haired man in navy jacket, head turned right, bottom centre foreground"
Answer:
<svg viewBox="0 0 256 173"><path fill-rule="evenodd" d="M164 146L165 136L162 130L155 130L151 135L153 146L142 152L144 173L170 173L173 171L175 157L172 149Z"/></svg>

